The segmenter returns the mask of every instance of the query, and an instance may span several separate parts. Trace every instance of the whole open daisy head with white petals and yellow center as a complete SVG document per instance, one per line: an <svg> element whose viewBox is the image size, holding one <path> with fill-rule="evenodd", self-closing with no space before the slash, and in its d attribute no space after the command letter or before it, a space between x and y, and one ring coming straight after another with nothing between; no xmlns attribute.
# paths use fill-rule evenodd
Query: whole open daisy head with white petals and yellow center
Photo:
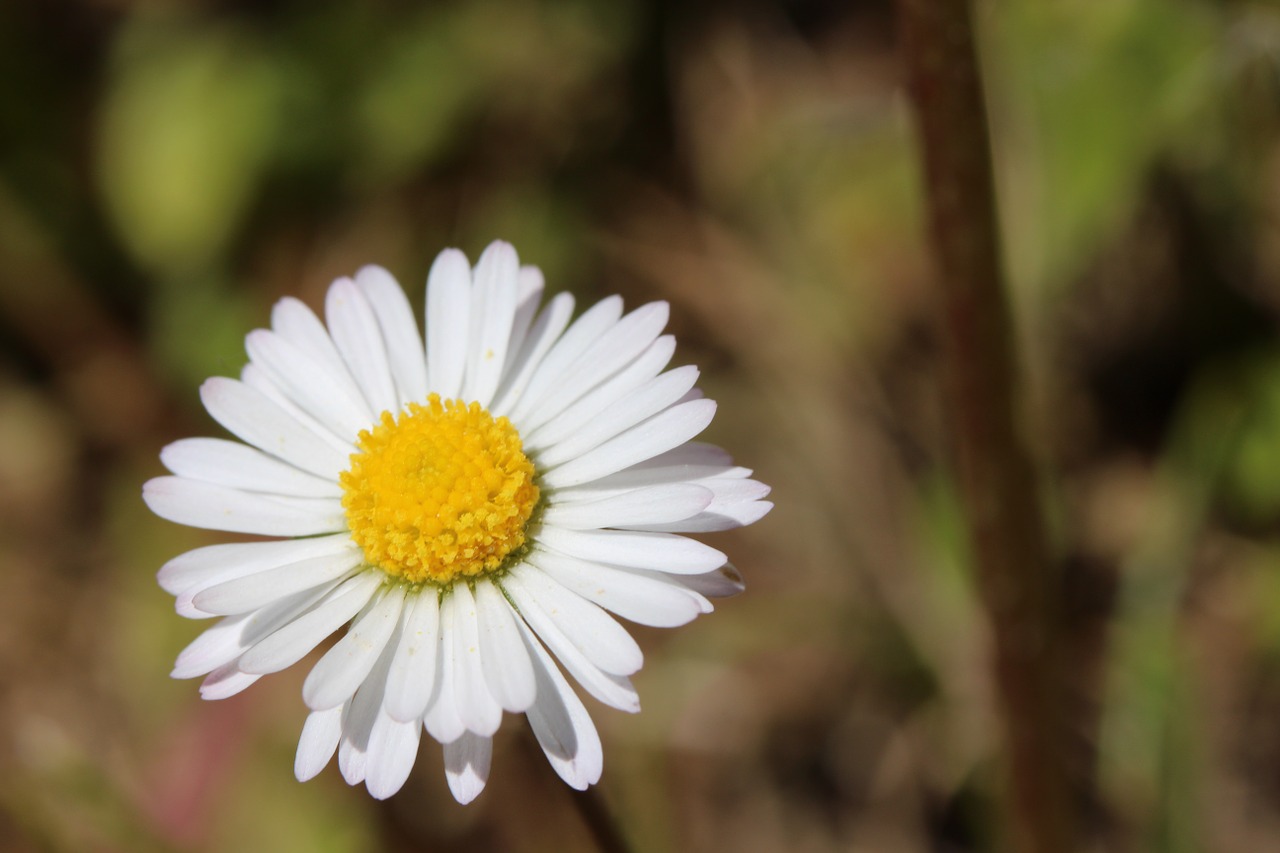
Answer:
<svg viewBox="0 0 1280 853"><path fill-rule="evenodd" d="M239 441L174 442L173 476L143 487L170 521L274 538L160 569L180 615L220 617L174 678L221 699L346 629L302 688L300 780L337 753L348 784L389 797L425 729L466 803L509 711L585 789L600 738L564 674L636 712L643 654L614 616L682 625L741 590L723 553L680 534L760 519L768 487L690 441L716 403L695 368L666 370L667 305L623 315L609 297L570 323L570 295L541 298L502 242L475 268L436 257L425 346L381 268L333 283L328 329L284 298L239 379L200 389Z"/></svg>

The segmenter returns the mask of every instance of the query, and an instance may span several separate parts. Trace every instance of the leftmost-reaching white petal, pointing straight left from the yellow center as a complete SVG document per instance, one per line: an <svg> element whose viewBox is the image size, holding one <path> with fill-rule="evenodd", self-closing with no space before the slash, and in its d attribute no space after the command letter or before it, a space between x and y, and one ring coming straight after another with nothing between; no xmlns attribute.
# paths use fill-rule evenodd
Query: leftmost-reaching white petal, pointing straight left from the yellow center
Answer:
<svg viewBox="0 0 1280 853"><path fill-rule="evenodd" d="M268 497L182 476L147 480L142 500L161 519L209 530L310 537L347 526L337 498Z"/></svg>

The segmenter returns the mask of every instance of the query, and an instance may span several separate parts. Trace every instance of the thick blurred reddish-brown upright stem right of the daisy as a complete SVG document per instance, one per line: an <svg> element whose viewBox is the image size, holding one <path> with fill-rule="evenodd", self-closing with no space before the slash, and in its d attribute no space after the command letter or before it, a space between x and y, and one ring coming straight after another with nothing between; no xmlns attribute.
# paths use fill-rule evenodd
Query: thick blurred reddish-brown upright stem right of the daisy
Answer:
<svg viewBox="0 0 1280 853"><path fill-rule="evenodd" d="M943 307L956 475L995 644L1005 840L1020 853L1064 853L1074 843L1051 608L1059 578L1016 425L1012 323L973 19L968 0L899 0L899 12Z"/></svg>

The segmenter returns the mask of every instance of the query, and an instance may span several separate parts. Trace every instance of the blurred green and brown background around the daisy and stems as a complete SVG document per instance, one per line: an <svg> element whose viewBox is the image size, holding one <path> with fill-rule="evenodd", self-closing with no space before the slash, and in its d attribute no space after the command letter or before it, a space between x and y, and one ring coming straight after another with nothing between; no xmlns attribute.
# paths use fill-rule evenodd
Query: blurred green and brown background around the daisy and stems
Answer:
<svg viewBox="0 0 1280 853"><path fill-rule="evenodd" d="M1089 849L1280 849L1280 4L978 4ZM508 719L387 803L292 756L303 666L168 678L151 516L198 383L444 246L672 302L774 487L748 592L590 701L643 850L987 850L1001 745L947 474L888 0L0 4L0 849L589 850Z"/></svg>

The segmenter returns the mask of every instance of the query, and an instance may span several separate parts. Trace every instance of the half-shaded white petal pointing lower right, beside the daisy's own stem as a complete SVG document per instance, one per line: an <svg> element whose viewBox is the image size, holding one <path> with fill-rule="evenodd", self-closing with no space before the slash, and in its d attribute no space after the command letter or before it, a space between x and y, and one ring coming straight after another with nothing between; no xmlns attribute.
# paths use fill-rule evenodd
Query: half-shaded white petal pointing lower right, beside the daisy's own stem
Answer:
<svg viewBox="0 0 1280 853"><path fill-rule="evenodd" d="M600 781L604 768L600 735L541 643L524 622L520 628L534 654L538 678L538 701L526 712L529 725L557 775L571 788L586 790Z"/></svg>

